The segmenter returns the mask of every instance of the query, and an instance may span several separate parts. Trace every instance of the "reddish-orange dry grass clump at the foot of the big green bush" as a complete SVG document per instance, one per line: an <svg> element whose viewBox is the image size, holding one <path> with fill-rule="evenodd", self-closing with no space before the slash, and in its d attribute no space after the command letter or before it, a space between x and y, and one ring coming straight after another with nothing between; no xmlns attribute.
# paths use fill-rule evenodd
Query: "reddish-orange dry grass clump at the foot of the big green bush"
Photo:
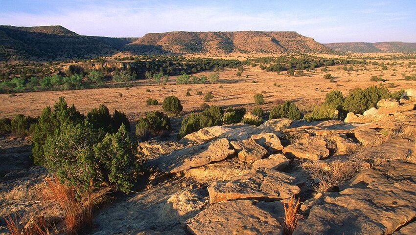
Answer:
<svg viewBox="0 0 416 235"><path fill-rule="evenodd" d="M77 234L79 230L92 225L92 201L88 195L83 200L77 200L74 189L61 184L57 179L48 179L44 198L59 204L67 233Z"/></svg>

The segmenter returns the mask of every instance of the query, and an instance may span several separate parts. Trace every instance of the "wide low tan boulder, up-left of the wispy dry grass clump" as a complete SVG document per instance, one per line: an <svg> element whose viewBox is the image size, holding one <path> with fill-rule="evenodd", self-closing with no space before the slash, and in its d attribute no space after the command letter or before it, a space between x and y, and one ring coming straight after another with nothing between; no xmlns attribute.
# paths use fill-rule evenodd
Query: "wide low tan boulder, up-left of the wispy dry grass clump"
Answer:
<svg viewBox="0 0 416 235"><path fill-rule="evenodd" d="M286 146L282 151L286 156L319 160L329 156L326 141L312 138L309 143L294 143Z"/></svg>

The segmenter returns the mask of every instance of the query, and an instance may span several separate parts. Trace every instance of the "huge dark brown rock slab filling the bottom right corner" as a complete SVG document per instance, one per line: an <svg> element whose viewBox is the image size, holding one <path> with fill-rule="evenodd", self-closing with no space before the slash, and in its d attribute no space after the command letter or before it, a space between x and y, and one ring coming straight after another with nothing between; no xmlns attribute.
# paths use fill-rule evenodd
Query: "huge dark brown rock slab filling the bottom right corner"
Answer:
<svg viewBox="0 0 416 235"><path fill-rule="evenodd" d="M401 160L360 172L325 194L293 235L386 235L416 217L416 165Z"/></svg>

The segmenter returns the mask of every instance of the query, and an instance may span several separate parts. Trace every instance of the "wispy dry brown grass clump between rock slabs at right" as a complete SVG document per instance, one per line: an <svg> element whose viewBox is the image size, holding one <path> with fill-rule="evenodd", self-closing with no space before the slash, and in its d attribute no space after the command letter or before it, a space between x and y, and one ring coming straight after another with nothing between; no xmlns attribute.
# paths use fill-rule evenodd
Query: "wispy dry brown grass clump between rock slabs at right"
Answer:
<svg viewBox="0 0 416 235"><path fill-rule="evenodd" d="M329 163L319 161L306 161L302 168L311 176L318 179L319 184L315 187L317 192L326 192L328 189L338 186L344 181L354 177L362 168L363 161L359 158L335 160Z"/></svg>

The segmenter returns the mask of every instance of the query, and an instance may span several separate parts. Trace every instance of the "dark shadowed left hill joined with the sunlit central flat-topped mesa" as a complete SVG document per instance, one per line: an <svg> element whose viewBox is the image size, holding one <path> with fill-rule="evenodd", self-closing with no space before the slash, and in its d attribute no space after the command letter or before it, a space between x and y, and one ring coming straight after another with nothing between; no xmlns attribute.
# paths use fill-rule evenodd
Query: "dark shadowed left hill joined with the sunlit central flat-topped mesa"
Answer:
<svg viewBox="0 0 416 235"><path fill-rule="evenodd" d="M92 58L128 51L135 54L330 53L296 32L166 32L141 38L83 36L60 25L0 26L0 60Z"/></svg>

